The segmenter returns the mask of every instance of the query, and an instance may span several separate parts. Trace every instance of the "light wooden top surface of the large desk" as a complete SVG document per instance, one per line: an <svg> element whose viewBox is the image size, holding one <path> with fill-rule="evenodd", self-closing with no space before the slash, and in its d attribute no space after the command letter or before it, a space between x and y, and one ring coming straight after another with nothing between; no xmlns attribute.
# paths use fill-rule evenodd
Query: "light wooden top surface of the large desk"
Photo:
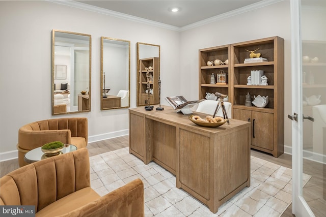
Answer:
<svg viewBox="0 0 326 217"><path fill-rule="evenodd" d="M155 108L158 106L154 106L152 111L146 111L144 106L129 109L130 113L141 113L146 115L147 118L161 121L161 122L168 122L172 125L182 125L187 126L191 128L195 128L196 130L210 132L210 133L218 133L221 131L225 131L228 129L238 128L238 127L244 127L246 125L251 126L251 123L248 121L243 120L237 120L229 118L230 124L225 123L224 125L216 128L209 128L209 127L201 127L193 123L191 120L188 119L188 116L190 115L184 115L182 113L177 113L177 110L174 110L171 106L161 106L164 107L164 110L159 111L155 110ZM194 112L193 115L199 115L202 118L205 118L207 114Z"/></svg>

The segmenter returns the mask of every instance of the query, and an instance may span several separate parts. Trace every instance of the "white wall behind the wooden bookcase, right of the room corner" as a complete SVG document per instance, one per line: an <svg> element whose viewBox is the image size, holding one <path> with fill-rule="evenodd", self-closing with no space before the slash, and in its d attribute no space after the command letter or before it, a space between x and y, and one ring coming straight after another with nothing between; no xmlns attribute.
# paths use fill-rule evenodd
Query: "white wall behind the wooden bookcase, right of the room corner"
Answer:
<svg viewBox="0 0 326 217"><path fill-rule="evenodd" d="M291 146L291 122L287 118L291 114L290 22L290 1L283 1L181 32L180 94L189 100L198 99L199 49L279 36L285 46L284 144Z"/></svg>

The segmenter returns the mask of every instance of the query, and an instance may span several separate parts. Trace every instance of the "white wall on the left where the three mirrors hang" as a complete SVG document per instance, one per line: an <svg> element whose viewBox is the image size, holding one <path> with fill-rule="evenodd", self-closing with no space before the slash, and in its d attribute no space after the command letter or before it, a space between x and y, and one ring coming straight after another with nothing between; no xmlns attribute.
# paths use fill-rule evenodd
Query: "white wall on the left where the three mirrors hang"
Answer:
<svg viewBox="0 0 326 217"><path fill-rule="evenodd" d="M48 118L88 117L89 141L128 133L128 109L100 110L101 36L130 41L131 107L137 42L161 46L162 96L175 92L166 85L179 64L179 32L46 1L0 1L0 16L0 153L16 150L21 126ZM52 29L92 35L91 112L51 115Z"/></svg>

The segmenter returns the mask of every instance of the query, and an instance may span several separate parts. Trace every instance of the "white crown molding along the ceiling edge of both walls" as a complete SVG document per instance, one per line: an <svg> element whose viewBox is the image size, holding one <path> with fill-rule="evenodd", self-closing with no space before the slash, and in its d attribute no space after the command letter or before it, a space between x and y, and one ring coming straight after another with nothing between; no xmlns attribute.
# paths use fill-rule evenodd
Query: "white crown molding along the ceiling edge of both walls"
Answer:
<svg viewBox="0 0 326 217"><path fill-rule="evenodd" d="M195 27L199 27L205 24L209 24L211 22L215 22L215 21L219 21L219 20L223 20L241 13L245 13L245 12L249 12L258 8L262 8L268 5L272 5L278 2L283 2L283 1L288 1L288 0L264 0L246 7L242 7L233 11L229 11L227 13L221 14L221 15L217 15L214 17L210 17L189 25L185 25L183 27L177 27L174 25L168 25L165 23L161 23L161 22L156 22L156 21L152 21L152 20L148 20L148 19L144 19L144 18L140 18L140 17L136 17L136 16L132 16L132 15L128 15L128 14L124 14L124 13L120 13L120 12L116 12L116 11L112 11L112 10L108 10L108 9L103 9L103 8L99 8L96 6L91 6L85 3L80 3L80 2L75 2L75 1L55 1L55 0L45 0L47 2L51 2L51 3L56 3L56 4L61 4L61 5L65 5L65 6L70 6L70 7L74 7L74 8L78 8L78 9L83 9L83 10L87 10L87 11L92 11L92 12L96 12L96 13L100 13L100 14L105 14L108 16L113 16L113 17L117 17L120 19L126 19L126 20L130 20L130 21L134 21L134 22L139 22L139 23L144 23L144 24L148 24L148 25L153 25L156 27L161 27L161 28L167 28L170 30L174 30L177 32L182 32L184 30L188 30L191 28L195 28Z"/></svg>

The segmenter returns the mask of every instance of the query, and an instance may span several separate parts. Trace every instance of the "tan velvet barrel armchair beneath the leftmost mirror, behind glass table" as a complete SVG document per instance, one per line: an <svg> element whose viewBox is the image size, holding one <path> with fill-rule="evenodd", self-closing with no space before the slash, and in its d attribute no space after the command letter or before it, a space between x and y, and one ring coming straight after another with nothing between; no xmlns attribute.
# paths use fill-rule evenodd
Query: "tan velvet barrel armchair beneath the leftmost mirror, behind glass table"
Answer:
<svg viewBox="0 0 326 217"><path fill-rule="evenodd" d="M18 164L27 165L24 154L42 145L60 141L84 148L88 142L88 119L69 117L40 120L29 123L18 130Z"/></svg>

